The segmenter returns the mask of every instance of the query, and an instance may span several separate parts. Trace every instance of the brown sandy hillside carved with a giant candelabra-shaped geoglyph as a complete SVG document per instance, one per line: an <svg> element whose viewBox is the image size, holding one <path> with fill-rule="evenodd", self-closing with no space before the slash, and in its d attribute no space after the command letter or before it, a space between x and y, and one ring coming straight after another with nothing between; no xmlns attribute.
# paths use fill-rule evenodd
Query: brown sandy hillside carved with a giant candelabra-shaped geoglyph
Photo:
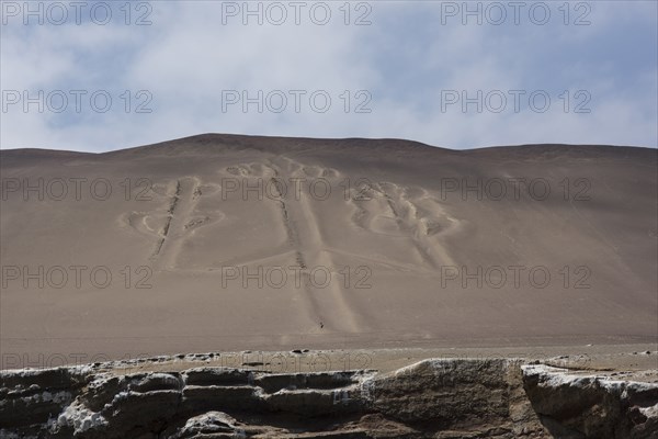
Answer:
<svg viewBox="0 0 658 439"><path fill-rule="evenodd" d="M0 158L2 369L292 349L658 368L655 149L208 134Z"/></svg>

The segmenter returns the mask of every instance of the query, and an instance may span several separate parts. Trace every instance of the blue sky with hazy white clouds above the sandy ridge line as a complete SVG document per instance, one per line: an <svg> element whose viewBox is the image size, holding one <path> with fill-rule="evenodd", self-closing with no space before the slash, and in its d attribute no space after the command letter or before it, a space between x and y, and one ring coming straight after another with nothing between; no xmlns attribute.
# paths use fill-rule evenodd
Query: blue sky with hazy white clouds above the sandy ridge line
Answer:
<svg viewBox="0 0 658 439"><path fill-rule="evenodd" d="M658 147L658 2L0 0L1 148Z"/></svg>

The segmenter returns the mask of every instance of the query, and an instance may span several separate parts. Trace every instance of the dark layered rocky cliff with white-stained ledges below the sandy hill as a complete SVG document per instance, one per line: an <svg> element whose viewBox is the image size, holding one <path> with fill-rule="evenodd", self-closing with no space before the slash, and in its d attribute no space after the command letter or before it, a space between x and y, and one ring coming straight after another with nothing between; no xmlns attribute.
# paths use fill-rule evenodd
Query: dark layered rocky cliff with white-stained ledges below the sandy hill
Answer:
<svg viewBox="0 0 658 439"><path fill-rule="evenodd" d="M166 369L166 368L164 368ZM389 373L95 367L0 373L1 438L656 438L658 384L520 361Z"/></svg>

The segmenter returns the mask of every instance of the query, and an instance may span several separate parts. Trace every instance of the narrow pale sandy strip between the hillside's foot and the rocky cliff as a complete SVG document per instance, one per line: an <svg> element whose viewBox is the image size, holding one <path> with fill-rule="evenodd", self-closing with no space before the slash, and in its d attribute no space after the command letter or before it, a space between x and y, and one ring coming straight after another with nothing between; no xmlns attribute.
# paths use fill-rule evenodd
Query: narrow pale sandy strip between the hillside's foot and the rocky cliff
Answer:
<svg viewBox="0 0 658 439"><path fill-rule="evenodd" d="M272 373L377 370L390 372L424 359L518 359L569 369L571 373L595 373L621 380L658 383L658 350L649 345L478 348L478 349L331 349L292 351L241 351L185 353L102 363L113 373L183 371L198 367L240 368ZM635 350L633 350L635 349Z"/></svg>

